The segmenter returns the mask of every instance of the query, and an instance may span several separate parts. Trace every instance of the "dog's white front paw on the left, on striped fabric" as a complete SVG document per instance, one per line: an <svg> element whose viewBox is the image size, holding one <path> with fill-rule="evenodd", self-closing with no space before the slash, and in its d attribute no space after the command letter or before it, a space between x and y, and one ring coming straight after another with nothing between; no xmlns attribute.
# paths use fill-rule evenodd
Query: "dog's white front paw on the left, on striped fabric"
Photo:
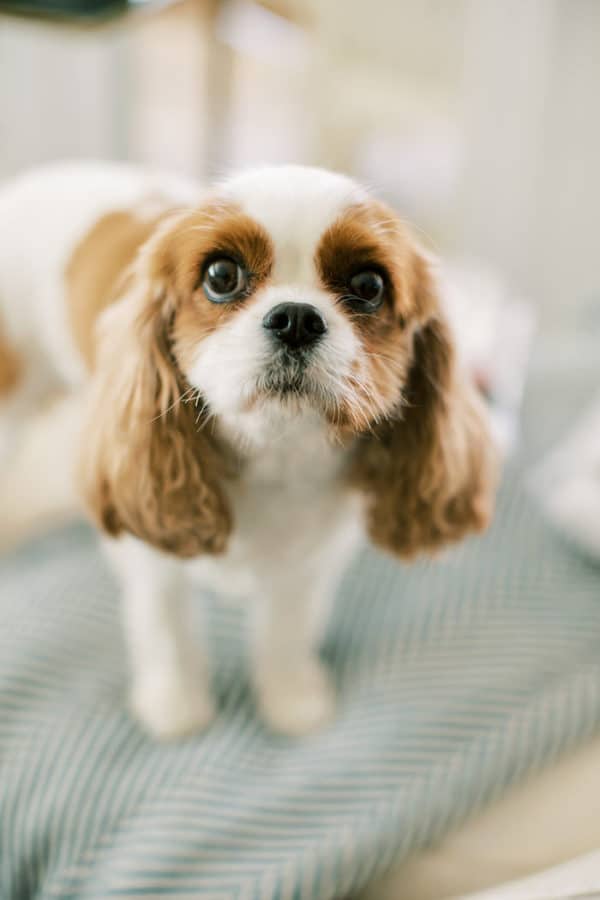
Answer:
<svg viewBox="0 0 600 900"><path fill-rule="evenodd" d="M160 741L204 731L215 715L207 686L180 674L152 672L138 677L131 710L142 727Z"/></svg>

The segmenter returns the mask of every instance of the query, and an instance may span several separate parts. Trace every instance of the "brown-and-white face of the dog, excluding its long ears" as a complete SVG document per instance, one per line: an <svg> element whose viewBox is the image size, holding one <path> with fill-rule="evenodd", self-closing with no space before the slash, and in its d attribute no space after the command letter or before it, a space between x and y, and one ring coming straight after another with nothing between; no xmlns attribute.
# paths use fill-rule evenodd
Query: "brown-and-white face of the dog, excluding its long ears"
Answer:
<svg viewBox="0 0 600 900"><path fill-rule="evenodd" d="M213 415L308 407L358 432L401 401L422 260L350 179L254 171L166 227L154 281L176 294L173 352Z"/></svg>

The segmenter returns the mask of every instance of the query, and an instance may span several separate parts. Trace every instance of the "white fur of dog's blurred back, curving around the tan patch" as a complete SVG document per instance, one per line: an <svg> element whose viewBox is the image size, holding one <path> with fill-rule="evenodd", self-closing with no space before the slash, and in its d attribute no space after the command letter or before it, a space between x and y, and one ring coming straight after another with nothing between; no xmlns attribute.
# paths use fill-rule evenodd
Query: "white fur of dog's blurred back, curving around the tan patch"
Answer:
<svg viewBox="0 0 600 900"><path fill-rule="evenodd" d="M82 365L65 322L65 273L106 214L193 202L193 182L117 163L44 166L0 189L0 334L31 365L43 358L67 385ZM151 210L150 210L151 214Z"/></svg>

